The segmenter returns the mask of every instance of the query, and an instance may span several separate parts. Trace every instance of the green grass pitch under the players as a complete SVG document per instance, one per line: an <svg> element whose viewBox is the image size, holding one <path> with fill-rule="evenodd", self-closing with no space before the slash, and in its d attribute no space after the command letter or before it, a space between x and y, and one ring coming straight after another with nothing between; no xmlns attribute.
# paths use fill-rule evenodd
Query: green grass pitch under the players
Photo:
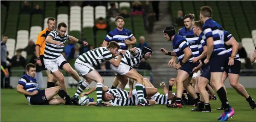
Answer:
<svg viewBox="0 0 256 122"><path fill-rule="evenodd" d="M256 89L246 89L252 98L256 100ZM176 90L175 90L176 91ZM70 95L76 89L68 89ZM159 89L163 93L162 89ZM235 116L228 121L256 121L256 109L252 110L247 101L238 95L234 89L227 89L230 105L235 109ZM96 98L96 93L90 94ZM96 101L96 100L94 100ZM70 105L27 105L24 95L16 92L16 89L1 89L1 121L218 121L222 111L215 110L220 107L219 100L210 101L212 113L190 112L195 107L183 106L183 108L167 108L166 105L154 105L153 107L96 107L96 106L70 106Z"/></svg>

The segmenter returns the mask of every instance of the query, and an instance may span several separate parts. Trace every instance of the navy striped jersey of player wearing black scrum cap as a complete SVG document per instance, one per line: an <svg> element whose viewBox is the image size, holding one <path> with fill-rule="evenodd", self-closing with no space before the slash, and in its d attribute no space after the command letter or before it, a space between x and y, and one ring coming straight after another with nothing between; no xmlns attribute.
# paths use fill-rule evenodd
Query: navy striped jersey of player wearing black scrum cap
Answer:
<svg viewBox="0 0 256 122"><path fill-rule="evenodd" d="M186 39L180 35L175 34L175 36L173 38L172 46L173 46L173 50L175 51L178 60L182 61L184 58L184 55L185 55L183 50L186 47L189 47L186 43ZM190 58L189 61L191 62L193 58L194 57L192 56L192 58Z"/></svg>

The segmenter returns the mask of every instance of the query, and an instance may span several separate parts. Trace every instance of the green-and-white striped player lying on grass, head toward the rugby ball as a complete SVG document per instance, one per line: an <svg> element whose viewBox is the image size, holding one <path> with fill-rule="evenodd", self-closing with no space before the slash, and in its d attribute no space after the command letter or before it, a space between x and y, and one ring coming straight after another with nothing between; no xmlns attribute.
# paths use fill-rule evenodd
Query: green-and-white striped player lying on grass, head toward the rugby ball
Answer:
<svg viewBox="0 0 256 122"><path fill-rule="evenodd" d="M153 88L155 89L155 88ZM84 95L91 94L96 90L96 87L90 89L89 92L83 92L81 96L83 97ZM151 91L149 89L145 89L145 91ZM138 105L138 94L137 91L134 89L132 91L132 96L128 98L129 92L123 89L120 89L119 87L117 89L109 89L107 86L103 86L102 89L102 100L105 101L105 104L108 106L128 106L128 105ZM156 91L157 92L157 91ZM148 95L155 94L148 92ZM145 92L144 92L145 93ZM146 100L143 98L145 103L148 103L150 105L155 105L156 102L154 100ZM90 102L88 105L96 105L96 102Z"/></svg>

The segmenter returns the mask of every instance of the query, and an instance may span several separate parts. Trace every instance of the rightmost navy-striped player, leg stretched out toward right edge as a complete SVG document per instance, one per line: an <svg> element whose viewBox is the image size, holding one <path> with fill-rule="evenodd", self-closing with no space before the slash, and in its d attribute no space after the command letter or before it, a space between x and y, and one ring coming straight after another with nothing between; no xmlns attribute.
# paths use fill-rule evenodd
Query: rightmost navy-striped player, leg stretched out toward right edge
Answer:
<svg viewBox="0 0 256 122"><path fill-rule="evenodd" d="M239 73L241 68L241 61L239 58L239 54L237 54L238 43L236 39L227 31L224 31L224 42L225 48L229 55L228 60L225 63L224 73L222 75L222 82L224 84L227 77L229 78L230 85L236 90L238 94L243 96L246 101L249 103L252 109L256 108L256 104L254 100L249 96L249 94L244 89L244 86L239 84ZM225 86L223 86L225 89ZM224 108L218 108L216 110L224 110Z"/></svg>

